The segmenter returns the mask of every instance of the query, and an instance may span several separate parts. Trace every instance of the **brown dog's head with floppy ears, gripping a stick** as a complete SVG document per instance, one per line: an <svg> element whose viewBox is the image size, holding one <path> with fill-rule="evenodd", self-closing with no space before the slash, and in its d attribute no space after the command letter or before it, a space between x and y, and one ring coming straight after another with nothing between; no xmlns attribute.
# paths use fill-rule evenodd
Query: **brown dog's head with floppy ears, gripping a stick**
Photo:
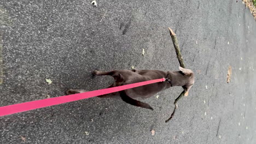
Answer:
<svg viewBox="0 0 256 144"><path fill-rule="evenodd" d="M187 93L187 94L185 94L185 96L187 96L189 89L194 85L195 76L194 76L193 71L190 69L185 69L185 68L179 67L179 70L181 70L181 72L186 77L186 84L184 86L182 86L182 88Z"/></svg>

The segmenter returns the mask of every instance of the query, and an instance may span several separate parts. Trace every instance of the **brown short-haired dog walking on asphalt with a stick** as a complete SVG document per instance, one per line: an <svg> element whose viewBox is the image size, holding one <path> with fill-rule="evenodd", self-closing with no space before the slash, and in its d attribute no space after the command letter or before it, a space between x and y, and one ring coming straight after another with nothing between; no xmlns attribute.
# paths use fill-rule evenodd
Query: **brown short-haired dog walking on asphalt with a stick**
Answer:
<svg viewBox="0 0 256 144"><path fill-rule="evenodd" d="M124 91L110 93L106 95L100 95L100 98L111 98L120 96L126 103L131 105L144 107L146 109L153 110L153 108L146 103L135 100L133 98L141 97L141 98L149 98L154 94L170 87L181 86L186 93L188 93L189 89L193 86L195 77L194 73L190 69L184 69L179 67L180 71L162 71L162 70L112 70L112 71L97 71L93 72L94 75L110 75L113 76L115 82L109 86L117 87L128 85L131 83L161 79L162 77L166 77L166 79L170 80L170 82L158 82L152 83L150 85L145 85L141 87L135 87L131 89L126 89ZM67 94L75 94L75 93L83 93L87 92L83 89L69 89Z"/></svg>

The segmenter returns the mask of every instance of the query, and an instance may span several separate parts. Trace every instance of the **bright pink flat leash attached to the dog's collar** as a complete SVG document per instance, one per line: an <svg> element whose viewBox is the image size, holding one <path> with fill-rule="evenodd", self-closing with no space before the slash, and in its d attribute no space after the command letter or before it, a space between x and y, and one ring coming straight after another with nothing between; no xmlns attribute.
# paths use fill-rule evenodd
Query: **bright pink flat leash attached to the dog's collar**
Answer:
<svg viewBox="0 0 256 144"><path fill-rule="evenodd" d="M151 83L163 82L163 81L165 81L165 78L137 82L137 83L132 83L129 85L124 85L124 86L119 86L119 87L99 89L99 90L91 91L91 92L65 95L62 97L34 100L34 101L28 101L28 102L20 103L20 104L2 106L2 107L0 107L0 116L6 116L6 115L11 115L13 113L40 109L42 107L47 107L47 106L52 106L52 105L64 104L64 103L81 100L81 99L88 99L91 97L96 97L98 95L119 92L119 91L123 91L125 89L130 89L130 88L134 88L134 87L149 85Z"/></svg>

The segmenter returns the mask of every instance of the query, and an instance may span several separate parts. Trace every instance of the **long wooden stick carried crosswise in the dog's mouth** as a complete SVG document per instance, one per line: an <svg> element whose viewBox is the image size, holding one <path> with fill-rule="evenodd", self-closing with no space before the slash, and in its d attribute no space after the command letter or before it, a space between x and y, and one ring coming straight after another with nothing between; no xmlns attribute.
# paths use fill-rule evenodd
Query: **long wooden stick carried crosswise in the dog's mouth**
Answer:
<svg viewBox="0 0 256 144"><path fill-rule="evenodd" d="M177 58L178 58L178 61L179 61L179 65L181 65L182 68L185 68L185 64L184 64L184 61L183 61L183 58L182 58L182 55L181 55L181 50L179 50L179 44L178 44L178 39L176 37L176 34L172 31L172 29L170 27L169 28L169 31L170 31L170 35L172 37L172 43L173 43L173 46L174 46L174 49L175 49L175 52L176 52L176 55L177 55ZM185 94L185 91L183 91L181 94L179 94L179 97L175 99L174 101L174 110L172 112L172 115L170 118L168 118L165 122L167 123L168 121L170 121L172 119L172 117L174 116L174 113L176 111L176 109L178 109L178 101L179 99L181 99L182 97L184 97L184 94Z"/></svg>

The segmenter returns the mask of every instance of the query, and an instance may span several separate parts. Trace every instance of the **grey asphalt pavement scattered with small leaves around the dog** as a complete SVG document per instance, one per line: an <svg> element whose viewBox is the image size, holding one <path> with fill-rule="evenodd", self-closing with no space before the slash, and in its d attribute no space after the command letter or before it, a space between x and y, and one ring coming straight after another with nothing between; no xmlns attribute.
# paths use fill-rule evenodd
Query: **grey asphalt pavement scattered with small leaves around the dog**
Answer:
<svg viewBox="0 0 256 144"><path fill-rule="evenodd" d="M154 111L90 98L3 116L0 143L256 143L256 25L242 1L96 2L0 2L0 106L113 82L95 69L178 70L168 27L196 76L189 96L168 123L181 87L143 100Z"/></svg>

